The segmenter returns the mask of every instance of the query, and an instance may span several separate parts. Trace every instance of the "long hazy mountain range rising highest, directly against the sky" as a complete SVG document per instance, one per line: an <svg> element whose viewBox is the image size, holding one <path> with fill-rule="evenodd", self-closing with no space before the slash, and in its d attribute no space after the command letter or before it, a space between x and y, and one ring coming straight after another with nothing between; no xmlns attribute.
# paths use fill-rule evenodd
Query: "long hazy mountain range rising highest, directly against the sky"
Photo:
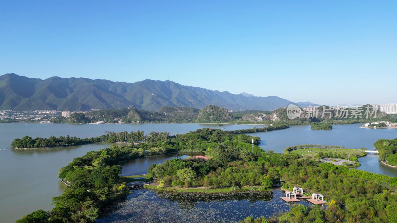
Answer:
<svg viewBox="0 0 397 223"><path fill-rule="evenodd" d="M60 77L42 80L13 73L0 76L0 109L15 111L87 111L129 106L156 111L163 106L202 109L207 105L234 111L275 110L291 103L277 96L247 97L227 91L183 86L172 81L126 83Z"/></svg>

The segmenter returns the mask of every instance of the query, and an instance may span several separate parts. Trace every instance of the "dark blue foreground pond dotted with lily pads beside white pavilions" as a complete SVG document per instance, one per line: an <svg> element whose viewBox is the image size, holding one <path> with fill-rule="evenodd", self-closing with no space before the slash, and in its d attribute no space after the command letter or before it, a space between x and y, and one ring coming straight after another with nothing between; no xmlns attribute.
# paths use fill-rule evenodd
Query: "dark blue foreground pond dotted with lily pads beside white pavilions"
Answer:
<svg viewBox="0 0 397 223"><path fill-rule="evenodd" d="M168 193L147 189L132 190L127 201L98 223L129 222L238 222L252 215L286 212L289 205L280 199L280 189L270 192L246 192L233 194ZM309 205L307 201L299 204Z"/></svg>

